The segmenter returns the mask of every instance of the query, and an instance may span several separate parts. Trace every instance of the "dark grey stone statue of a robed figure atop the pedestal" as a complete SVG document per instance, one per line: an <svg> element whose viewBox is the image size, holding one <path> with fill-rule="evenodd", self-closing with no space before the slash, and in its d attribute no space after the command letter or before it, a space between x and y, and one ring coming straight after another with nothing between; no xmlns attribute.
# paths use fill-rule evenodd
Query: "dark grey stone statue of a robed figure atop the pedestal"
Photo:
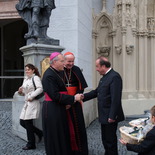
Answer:
<svg viewBox="0 0 155 155"><path fill-rule="evenodd" d="M54 40L47 36L51 12L55 9L54 0L19 0L16 9L28 24L28 33L24 36L29 40L27 44L39 39L45 43Z"/></svg>

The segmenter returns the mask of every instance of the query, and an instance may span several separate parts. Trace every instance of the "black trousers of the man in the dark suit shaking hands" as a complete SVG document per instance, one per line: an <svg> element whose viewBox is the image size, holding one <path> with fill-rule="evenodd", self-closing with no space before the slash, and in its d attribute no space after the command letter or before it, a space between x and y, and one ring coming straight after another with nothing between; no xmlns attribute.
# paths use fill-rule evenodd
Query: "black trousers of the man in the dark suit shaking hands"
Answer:
<svg viewBox="0 0 155 155"><path fill-rule="evenodd" d="M118 155L117 126L118 123L101 124L102 143L105 149L105 155Z"/></svg>

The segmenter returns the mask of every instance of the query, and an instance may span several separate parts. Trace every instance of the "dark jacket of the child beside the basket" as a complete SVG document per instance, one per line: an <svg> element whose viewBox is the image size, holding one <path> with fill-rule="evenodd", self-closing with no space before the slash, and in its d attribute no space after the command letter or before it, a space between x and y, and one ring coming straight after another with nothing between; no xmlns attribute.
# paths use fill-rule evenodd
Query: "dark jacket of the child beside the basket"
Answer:
<svg viewBox="0 0 155 155"><path fill-rule="evenodd" d="M126 147L127 150L137 152L138 155L155 155L155 126L139 145L127 144Z"/></svg>

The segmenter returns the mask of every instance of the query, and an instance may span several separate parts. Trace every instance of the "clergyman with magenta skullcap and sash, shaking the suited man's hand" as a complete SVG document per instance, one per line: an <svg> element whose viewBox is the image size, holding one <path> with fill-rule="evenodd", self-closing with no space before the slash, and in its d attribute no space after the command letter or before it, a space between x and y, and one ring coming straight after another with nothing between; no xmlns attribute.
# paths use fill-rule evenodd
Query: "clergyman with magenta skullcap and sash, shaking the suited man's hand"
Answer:
<svg viewBox="0 0 155 155"><path fill-rule="evenodd" d="M66 106L81 101L81 95L67 95L61 77L64 56L59 52L50 55L50 67L42 79L45 100L42 109L44 143L47 155L71 155L69 125Z"/></svg>

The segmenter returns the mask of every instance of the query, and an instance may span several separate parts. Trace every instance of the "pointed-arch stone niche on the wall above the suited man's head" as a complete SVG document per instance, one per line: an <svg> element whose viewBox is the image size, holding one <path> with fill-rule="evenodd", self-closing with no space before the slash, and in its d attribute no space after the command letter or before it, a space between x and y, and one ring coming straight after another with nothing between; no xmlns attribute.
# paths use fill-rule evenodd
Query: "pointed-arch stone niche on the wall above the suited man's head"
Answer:
<svg viewBox="0 0 155 155"><path fill-rule="evenodd" d="M112 62L112 29L112 19L108 14L101 12L93 17L93 62L101 55L107 57ZM94 74L94 76L97 85L100 77L98 74Z"/></svg>

